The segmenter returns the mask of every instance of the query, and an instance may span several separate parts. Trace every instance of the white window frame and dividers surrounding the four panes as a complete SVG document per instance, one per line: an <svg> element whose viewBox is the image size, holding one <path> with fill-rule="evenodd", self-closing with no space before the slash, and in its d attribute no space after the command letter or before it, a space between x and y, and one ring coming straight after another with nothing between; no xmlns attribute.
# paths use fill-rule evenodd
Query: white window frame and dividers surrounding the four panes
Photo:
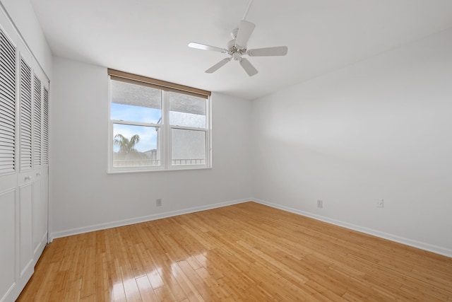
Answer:
<svg viewBox="0 0 452 302"><path fill-rule="evenodd" d="M109 69L109 72L112 71ZM121 71L117 71L121 74ZM130 74L126 74L130 75ZM130 75L133 76L133 75ZM145 123L145 122L130 122L123 120L112 120L111 118L111 105L112 105L112 81L121 81L118 79L116 75L114 79L112 76L108 75L108 170L107 173L136 173L136 172L153 172L153 171L168 171L168 170L198 170L198 169L209 169L212 168L212 147L211 147L211 103L210 103L210 93L209 95L203 95L203 98L206 99L206 128L198 128L198 127L184 127L179 125L171 125L169 124L169 98L168 92L172 91L175 93L189 94L195 95L194 93L186 93L185 91L177 91L172 87L167 88L166 86L156 86L155 88L160 89L162 93L162 123L154 124L154 123ZM140 79L148 79L139 76ZM126 80L130 80L130 78L124 77ZM153 80L153 79L150 79ZM158 81L158 80L155 80ZM130 82L130 81L129 81ZM143 81L136 81L136 84L140 84ZM161 81L159 81L161 82ZM167 83L167 82L162 82ZM172 84L172 83L169 83ZM177 84L174 84L177 85ZM185 87L185 86L182 86ZM207 91L206 91L207 93ZM160 128L160 166L140 166L140 167L114 167L113 166L113 125L114 124L128 124L132 126L145 126L145 127L156 127ZM205 164L190 164L190 165L173 165L172 164L172 129L183 129L183 130L193 130L193 131L201 131L205 132L206 135L206 163Z"/></svg>

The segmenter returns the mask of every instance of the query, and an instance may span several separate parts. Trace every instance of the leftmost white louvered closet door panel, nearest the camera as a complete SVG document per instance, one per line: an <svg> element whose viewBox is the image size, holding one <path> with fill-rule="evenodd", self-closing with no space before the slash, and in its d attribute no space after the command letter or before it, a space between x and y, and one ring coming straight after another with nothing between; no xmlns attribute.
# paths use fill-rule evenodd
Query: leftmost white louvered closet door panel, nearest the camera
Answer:
<svg viewBox="0 0 452 302"><path fill-rule="evenodd" d="M16 46L0 29L0 301L16 284Z"/></svg>

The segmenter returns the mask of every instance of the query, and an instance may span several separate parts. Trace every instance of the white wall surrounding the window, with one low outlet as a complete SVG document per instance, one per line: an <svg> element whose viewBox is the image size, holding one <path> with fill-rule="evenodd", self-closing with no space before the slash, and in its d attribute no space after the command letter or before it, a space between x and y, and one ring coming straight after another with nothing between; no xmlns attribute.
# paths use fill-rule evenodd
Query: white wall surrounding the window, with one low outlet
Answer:
<svg viewBox="0 0 452 302"><path fill-rule="evenodd" d="M108 175L107 69L54 57L53 72L52 237L251 197L251 102L213 94L212 169Z"/></svg>

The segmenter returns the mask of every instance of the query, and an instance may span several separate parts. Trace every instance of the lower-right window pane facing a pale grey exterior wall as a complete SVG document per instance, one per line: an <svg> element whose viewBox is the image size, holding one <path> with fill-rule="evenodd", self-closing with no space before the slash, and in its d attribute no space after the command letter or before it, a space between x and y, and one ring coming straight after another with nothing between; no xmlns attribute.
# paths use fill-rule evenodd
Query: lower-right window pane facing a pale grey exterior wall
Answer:
<svg viewBox="0 0 452 302"><path fill-rule="evenodd" d="M171 164L206 164L206 132L186 129L172 129Z"/></svg>

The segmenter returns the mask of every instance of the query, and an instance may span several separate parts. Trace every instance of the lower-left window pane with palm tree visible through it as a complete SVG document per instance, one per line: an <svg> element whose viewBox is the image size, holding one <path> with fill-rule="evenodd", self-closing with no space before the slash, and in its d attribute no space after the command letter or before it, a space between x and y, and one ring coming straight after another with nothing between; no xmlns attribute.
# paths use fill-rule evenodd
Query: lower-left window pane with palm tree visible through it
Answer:
<svg viewBox="0 0 452 302"><path fill-rule="evenodd" d="M113 124L113 167L161 165L160 127Z"/></svg>

